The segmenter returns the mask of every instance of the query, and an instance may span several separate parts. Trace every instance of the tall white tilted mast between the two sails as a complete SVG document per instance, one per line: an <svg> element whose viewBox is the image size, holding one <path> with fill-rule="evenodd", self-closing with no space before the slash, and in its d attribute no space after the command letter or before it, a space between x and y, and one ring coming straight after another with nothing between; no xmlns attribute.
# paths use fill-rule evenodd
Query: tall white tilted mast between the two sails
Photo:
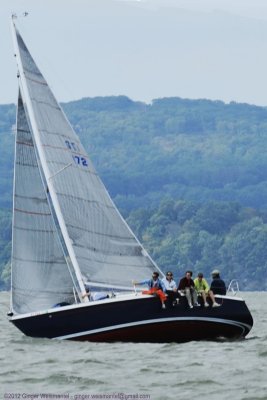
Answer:
<svg viewBox="0 0 267 400"><path fill-rule="evenodd" d="M78 261L75 256L73 246L71 243L71 239L69 237L69 234L68 234L68 231L66 228L66 224L65 224L65 220L63 218L63 214L62 214L60 204L59 204L59 201L57 198L57 194L54 189L54 185L53 185L54 175L50 175L50 172L49 172L49 169L47 166L45 153L44 153L43 146L41 143L40 133L39 133L39 129L37 126L35 114L33 111L32 101L31 101L31 97L29 94L28 85L27 85L25 73L24 73L24 68L23 68L22 60L21 60L21 56L20 56L20 50L19 50L19 45L18 45L18 41L17 41L17 33L16 33L17 29L16 29L16 25L14 22L14 16L12 16L12 20L11 20L11 30L12 30L12 37L13 37L13 43L14 43L15 57L16 57L16 62L17 62L17 66L18 66L18 71L19 71L19 74L18 74L19 75L18 76L19 77L19 86L20 86L21 94L23 96L24 103L26 103L26 105L27 105L27 112L28 112L29 119L30 119L30 125L32 128L34 140L35 140L36 147L37 147L37 152L39 155L40 163L41 163L44 177L46 180L47 189L48 189L49 194L52 199L55 214L56 214L56 217L57 217L57 220L59 223L59 227L60 227L64 242L65 242L66 248L67 248L69 256L70 256L71 263L73 265L73 268L74 268L74 271L75 271L75 274L77 277L77 282L79 284L80 291L81 291L81 293L85 293L85 286L84 286L82 274L80 271L80 267L79 267ZM68 166L66 166L65 168L67 168L67 167ZM58 171L57 174L59 174L60 172L61 171ZM81 297L81 293L78 293L80 301L88 302L89 301L88 297L85 297L83 299Z"/></svg>

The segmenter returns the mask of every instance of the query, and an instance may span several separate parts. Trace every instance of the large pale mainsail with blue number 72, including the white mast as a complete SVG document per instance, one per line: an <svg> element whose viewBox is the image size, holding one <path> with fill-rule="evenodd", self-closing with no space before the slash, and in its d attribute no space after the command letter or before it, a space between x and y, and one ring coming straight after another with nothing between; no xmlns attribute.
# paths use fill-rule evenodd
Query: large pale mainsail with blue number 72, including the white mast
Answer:
<svg viewBox="0 0 267 400"><path fill-rule="evenodd" d="M14 36L29 129L51 196L51 213L62 231L80 291L84 281L95 287L130 289L132 279L145 279L158 267L110 199L15 25Z"/></svg>

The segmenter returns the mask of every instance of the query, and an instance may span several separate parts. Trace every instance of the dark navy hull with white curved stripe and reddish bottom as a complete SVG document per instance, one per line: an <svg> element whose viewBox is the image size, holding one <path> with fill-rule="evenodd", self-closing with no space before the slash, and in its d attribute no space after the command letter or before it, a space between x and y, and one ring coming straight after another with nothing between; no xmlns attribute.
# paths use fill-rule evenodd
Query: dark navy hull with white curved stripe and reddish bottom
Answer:
<svg viewBox="0 0 267 400"><path fill-rule="evenodd" d="M128 296L45 312L13 316L10 321L25 335L94 342L186 342L244 338L253 319L238 298L218 297L218 308L161 308L158 298Z"/></svg>

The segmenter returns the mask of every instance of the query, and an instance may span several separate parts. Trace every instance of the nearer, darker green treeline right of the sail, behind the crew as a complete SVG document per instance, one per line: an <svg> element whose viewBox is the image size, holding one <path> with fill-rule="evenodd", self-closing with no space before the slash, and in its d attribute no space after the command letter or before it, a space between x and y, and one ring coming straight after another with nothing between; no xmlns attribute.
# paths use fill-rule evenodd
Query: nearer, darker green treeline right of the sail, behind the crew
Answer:
<svg viewBox="0 0 267 400"><path fill-rule="evenodd" d="M133 211L127 221L163 271L179 279L191 269L209 279L216 267L242 290L267 289L265 213L236 203L170 200L145 212Z"/></svg>

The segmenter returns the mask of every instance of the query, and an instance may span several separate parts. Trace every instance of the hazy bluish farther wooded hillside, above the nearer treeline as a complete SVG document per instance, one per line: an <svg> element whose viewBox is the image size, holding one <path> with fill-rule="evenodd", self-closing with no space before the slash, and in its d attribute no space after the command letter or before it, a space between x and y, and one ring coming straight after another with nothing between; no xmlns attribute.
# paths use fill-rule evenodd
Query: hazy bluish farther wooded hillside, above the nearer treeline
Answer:
<svg viewBox="0 0 267 400"><path fill-rule="evenodd" d="M174 199L267 206L267 109L180 98L127 97L63 105L116 204ZM15 107L0 106L0 208L11 206Z"/></svg>

